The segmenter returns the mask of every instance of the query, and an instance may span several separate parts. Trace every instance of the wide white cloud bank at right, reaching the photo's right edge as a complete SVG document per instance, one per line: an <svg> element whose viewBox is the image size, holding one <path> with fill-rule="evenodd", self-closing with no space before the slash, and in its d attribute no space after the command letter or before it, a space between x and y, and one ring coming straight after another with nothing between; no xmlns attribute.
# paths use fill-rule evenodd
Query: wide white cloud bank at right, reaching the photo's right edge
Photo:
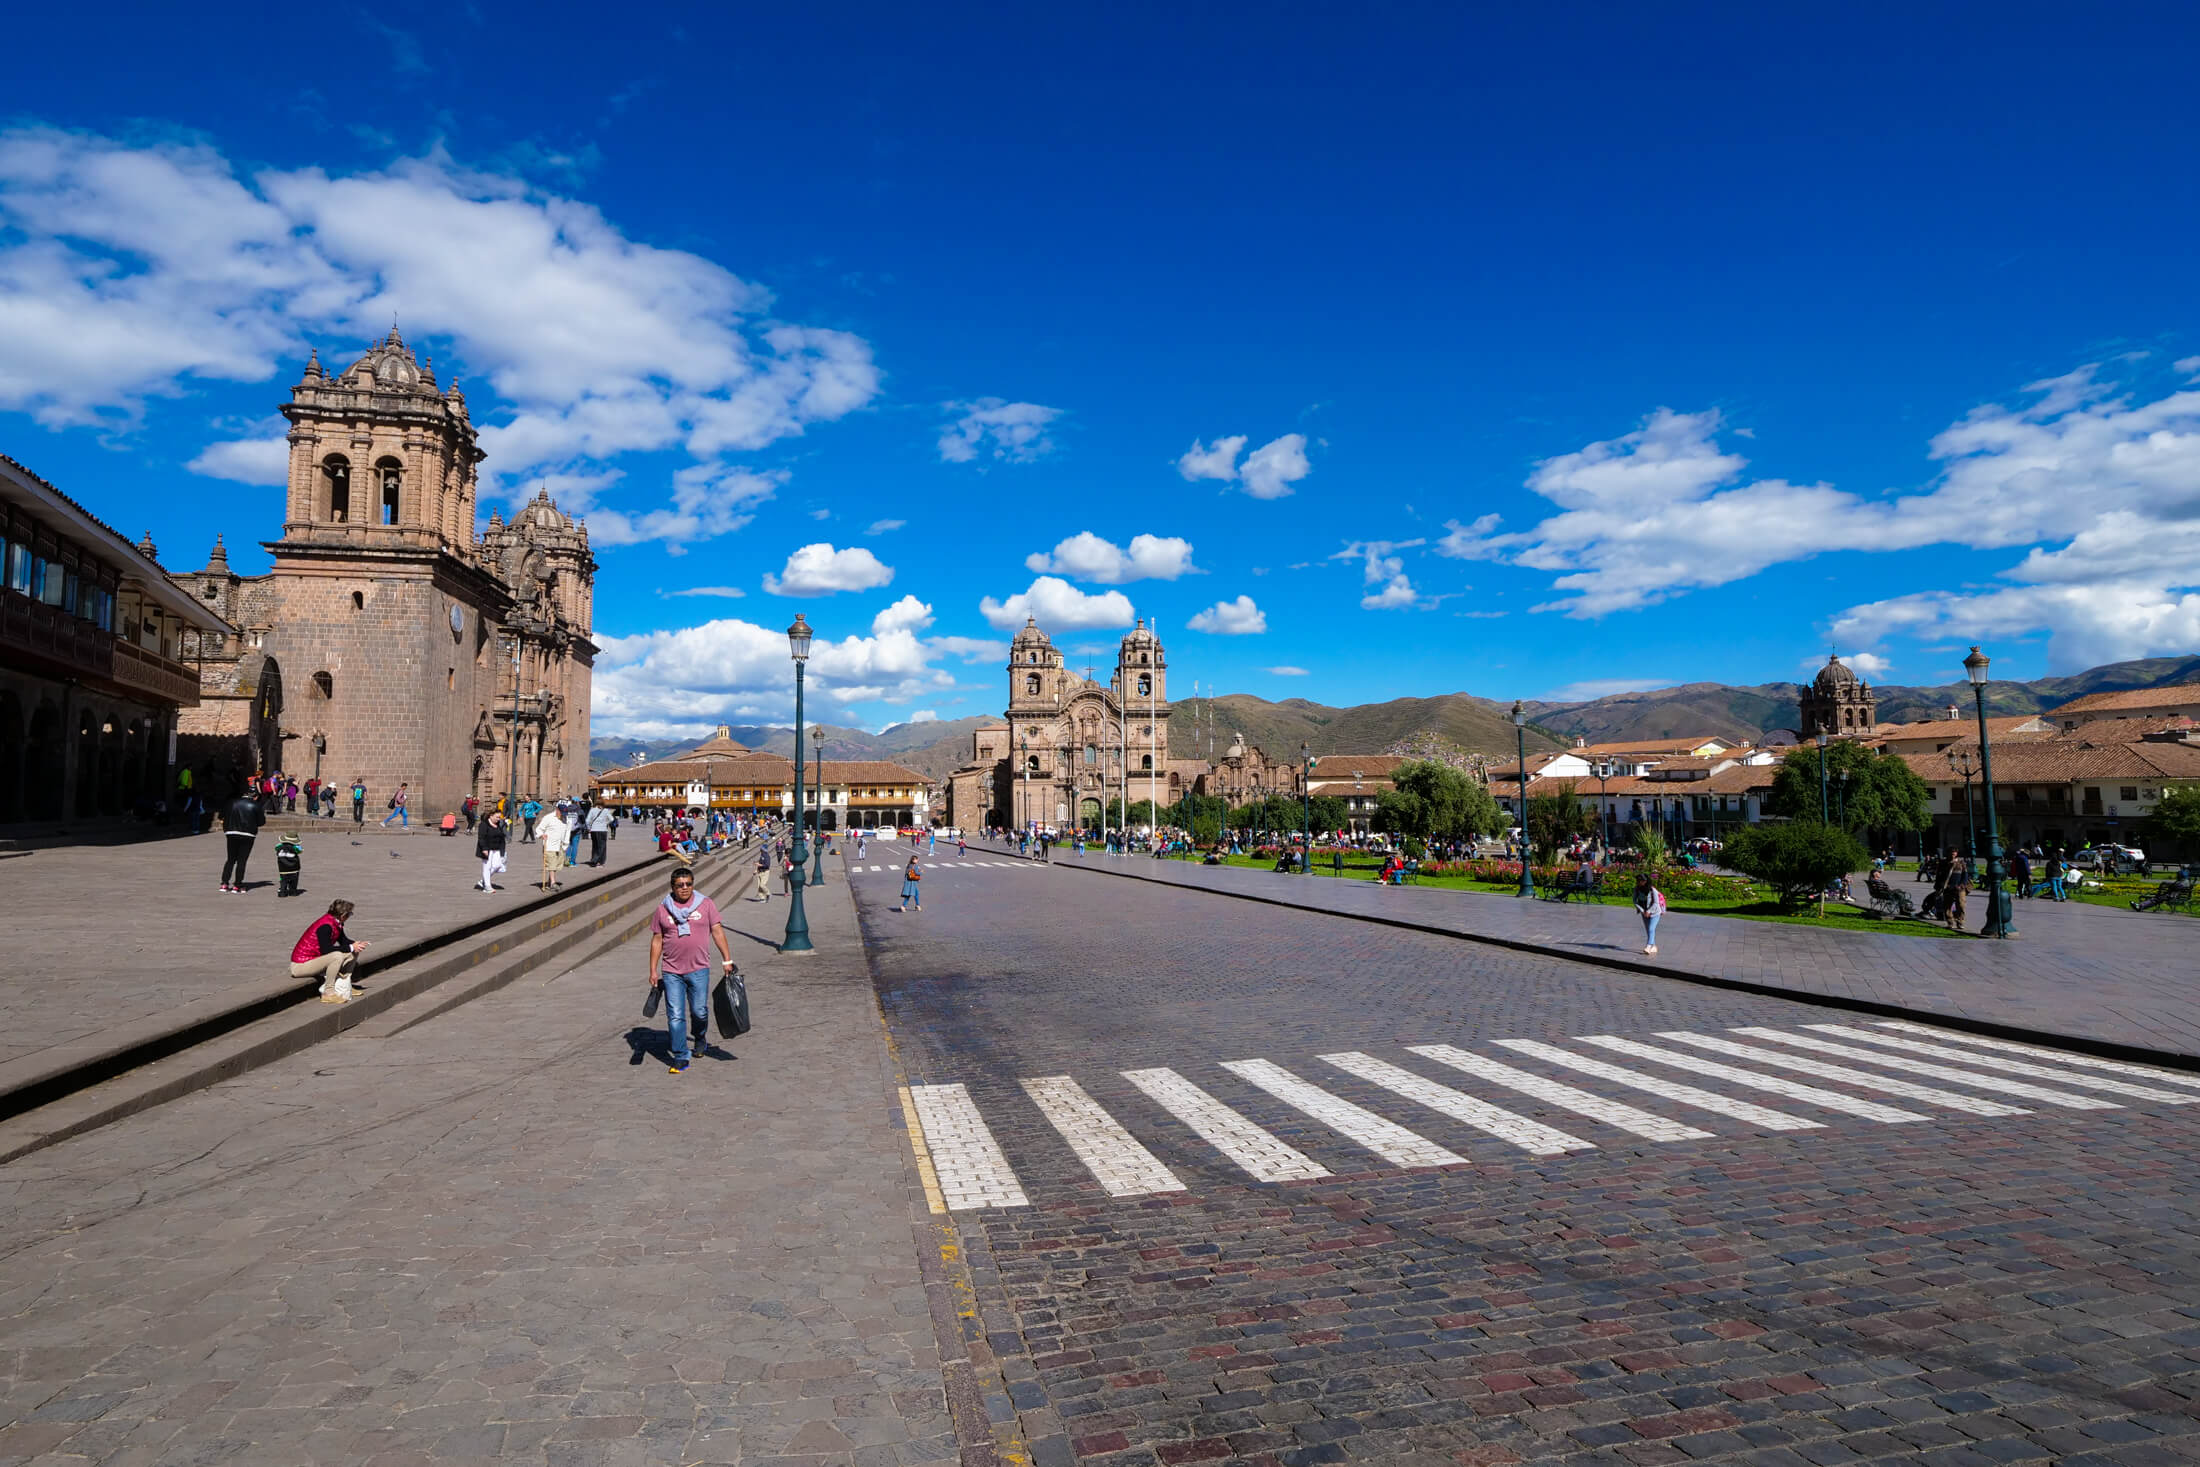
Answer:
<svg viewBox="0 0 2200 1467"><path fill-rule="evenodd" d="M1657 605L1826 550L2028 548L1987 592L1850 607L1841 640L2048 633L2057 671L2189 651L2200 589L2200 389L2121 391L2101 367L2031 383L1936 433L1916 493L1747 479L1716 411L1659 409L1621 438L1544 460L1527 484L1560 512L1518 534L1452 521L1441 554L1560 572L1569 616Z"/></svg>

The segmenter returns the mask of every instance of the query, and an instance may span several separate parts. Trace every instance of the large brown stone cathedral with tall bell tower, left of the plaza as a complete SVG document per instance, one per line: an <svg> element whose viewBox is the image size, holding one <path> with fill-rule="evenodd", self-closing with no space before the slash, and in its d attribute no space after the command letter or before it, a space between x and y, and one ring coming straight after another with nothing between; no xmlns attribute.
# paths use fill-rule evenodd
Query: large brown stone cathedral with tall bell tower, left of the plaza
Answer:
<svg viewBox="0 0 2200 1467"><path fill-rule="evenodd" d="M282 416L275 567L238 576L216 541L202 570L169 572L240 629L185 651L200 706L178 759L218 781L319 774L345 787L343 816L363 779L376 820L398 783L414 823L469 794L486 805L508 779L521 798L587 790L587 526L537 495L477 532L466 396L394 328L341 374L315 354Z"/></svg>

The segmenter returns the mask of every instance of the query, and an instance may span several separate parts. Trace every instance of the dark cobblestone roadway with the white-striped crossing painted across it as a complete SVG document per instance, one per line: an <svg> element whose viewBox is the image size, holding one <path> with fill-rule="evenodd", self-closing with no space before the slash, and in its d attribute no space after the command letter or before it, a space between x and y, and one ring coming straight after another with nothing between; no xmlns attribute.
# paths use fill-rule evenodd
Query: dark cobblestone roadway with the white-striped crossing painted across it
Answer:
<svg viewBox="0 0 2200 1467"><path fill-rule="evenodd" d="M2189 1076L972 858L851 884L1036 1463L2200 1458Z"/></svg>

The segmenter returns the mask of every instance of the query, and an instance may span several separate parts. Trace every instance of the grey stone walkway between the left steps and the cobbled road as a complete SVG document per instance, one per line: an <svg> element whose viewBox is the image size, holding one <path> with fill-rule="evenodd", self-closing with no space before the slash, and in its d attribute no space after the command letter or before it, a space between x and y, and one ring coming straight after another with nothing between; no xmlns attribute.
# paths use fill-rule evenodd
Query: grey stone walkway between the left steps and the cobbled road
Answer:
<svg viewBox="0 0 2200 1467"><path fill-rule="evenodd" d="M682 1078L629 944L0 1170L0 1463L957 1460L845 886L741 878Z"/></svg>

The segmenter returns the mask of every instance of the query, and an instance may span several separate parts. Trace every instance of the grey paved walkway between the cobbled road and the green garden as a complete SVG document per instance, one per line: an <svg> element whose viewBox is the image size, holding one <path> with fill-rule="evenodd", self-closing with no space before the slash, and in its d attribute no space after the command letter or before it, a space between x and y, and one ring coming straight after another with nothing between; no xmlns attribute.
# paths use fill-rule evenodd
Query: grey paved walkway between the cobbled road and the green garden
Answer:
<svg viewBox="0 0 2200 1467"><path fill-rule="evenodd" d="M1866 999L1932 1014L2070 1034L2200 1058L2200 926L2176 913L2119 913L2081 902L2017 902L2015 941L1934 941L1668 913L1657 957L1626 906L1296 878L1177 860L1060 856L1146 882L1239 891L1313 911L1401 917L1456 933L1531 941L1560 952L1791 988L1800 996ZM1973 924L1982 919L1973 906Z"/></svg>

